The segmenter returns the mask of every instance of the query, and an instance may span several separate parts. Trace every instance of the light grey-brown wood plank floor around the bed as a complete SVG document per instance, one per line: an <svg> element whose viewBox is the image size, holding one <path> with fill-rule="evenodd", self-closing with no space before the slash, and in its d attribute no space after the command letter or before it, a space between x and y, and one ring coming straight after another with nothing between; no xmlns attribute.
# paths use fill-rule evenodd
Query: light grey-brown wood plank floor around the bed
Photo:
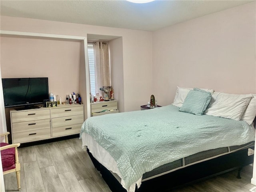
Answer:
<svg viewBox="0 0 256 192"><path fill-rule="evenodd" d="M78 138L19 148L22 192L111 192L94 168ZM242 179L231 171L172 192L249 192L252 166L243 168ZM6 192L17 191L14 172L4 175Z"/></svg>

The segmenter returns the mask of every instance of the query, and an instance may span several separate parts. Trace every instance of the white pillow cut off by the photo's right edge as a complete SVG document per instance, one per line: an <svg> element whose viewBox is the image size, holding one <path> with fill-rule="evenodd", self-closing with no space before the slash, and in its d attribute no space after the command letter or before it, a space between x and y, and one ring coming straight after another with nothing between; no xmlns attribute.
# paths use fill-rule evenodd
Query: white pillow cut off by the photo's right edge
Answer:
<svg viewBox="0 0 256 192"><path fill-rule="evenodd" d="M249 125L252 124L255 116L256 116L256 94L252 94L252 98L242 115L241 120L246 121Z"/></svg>

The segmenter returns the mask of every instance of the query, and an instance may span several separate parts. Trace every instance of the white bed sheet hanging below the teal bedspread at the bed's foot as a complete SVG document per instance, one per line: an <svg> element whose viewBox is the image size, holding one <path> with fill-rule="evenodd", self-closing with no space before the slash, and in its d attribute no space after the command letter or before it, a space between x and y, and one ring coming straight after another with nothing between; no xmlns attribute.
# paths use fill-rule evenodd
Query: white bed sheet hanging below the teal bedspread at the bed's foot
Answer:
<svg viewBox="0 0 256 192"><path fill-rule="evenodd" d="M121 178L121 174L117 168L116 161L114 158L104 149L102 148L89 134L83 132L82 133L82 148L86 150L86 147L90 150L90 153L96 158L100 164L106 167L108 170L117 174ZM132 184L130 188L126 189L128 192L134 192L136 188L136 184L140 187L142 178L140 178L136 183ZM121 184L124 187L124 181L121 178ZM124 187L125 188L125 187Z"/></svg>

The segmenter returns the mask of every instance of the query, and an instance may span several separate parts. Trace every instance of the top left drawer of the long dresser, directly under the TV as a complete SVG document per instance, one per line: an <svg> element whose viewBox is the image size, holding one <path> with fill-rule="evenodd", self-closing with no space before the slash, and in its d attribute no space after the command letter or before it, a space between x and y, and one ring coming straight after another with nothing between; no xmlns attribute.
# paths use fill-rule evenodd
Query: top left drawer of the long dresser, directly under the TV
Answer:
<svg viewBox="0 0 256 192"><path fill-rule="evenodd" d="M50 110L28 110L28 111L18 111L12 112L12 123L24 122L24 121L34 121L41 119L50 119Z"/></svg>

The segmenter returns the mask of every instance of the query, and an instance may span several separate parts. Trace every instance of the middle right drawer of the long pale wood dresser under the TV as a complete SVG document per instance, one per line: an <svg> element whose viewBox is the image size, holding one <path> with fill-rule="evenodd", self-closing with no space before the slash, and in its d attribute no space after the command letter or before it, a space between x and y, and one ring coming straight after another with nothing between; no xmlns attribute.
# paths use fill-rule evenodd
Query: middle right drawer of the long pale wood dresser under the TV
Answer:
<svg viewBox="0 0 256 192"><path fill-rule="evenodd" d="M52 118L52 128L80 124L84 122L83 115Z"/></svg>

